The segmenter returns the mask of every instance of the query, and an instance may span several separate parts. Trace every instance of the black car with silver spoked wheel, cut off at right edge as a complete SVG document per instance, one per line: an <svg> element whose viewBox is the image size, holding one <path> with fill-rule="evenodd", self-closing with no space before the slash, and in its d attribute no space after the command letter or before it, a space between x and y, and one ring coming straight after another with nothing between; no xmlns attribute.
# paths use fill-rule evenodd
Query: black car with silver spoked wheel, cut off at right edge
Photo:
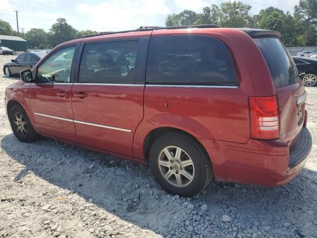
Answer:
<svg viewBox="0 0 317 238"><path fill-rule="evenodd" d="M298 72L306 73L303 76L305 86L317 85L317 59L310 57L293 57Z"/></svg>

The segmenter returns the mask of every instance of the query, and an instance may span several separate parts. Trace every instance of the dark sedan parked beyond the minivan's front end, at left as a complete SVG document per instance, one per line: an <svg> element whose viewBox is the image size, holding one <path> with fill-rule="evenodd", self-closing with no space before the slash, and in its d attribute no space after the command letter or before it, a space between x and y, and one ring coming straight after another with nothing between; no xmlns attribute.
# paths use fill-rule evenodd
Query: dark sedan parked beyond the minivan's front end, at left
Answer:
<svg viewBox="0 0 317 238"><path fill-rule="evenodd" d="M8 77L20 74L21 71L34 67L34 65L46 55L46 52L23 53L15 60L5 63L3 65L3 73Z"/></svg>

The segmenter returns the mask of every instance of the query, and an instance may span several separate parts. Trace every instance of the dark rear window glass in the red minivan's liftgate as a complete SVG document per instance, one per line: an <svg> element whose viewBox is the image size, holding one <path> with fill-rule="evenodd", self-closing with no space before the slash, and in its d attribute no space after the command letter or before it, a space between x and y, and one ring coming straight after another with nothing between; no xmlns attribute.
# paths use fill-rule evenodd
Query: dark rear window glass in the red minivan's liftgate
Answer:
<svg viewBox="0 0 317 238"><path fill-rule="evenodd" d="M256 38L254 41L264 56L275 88L285 87L299 81L296 65L279 39Z"/></svg>

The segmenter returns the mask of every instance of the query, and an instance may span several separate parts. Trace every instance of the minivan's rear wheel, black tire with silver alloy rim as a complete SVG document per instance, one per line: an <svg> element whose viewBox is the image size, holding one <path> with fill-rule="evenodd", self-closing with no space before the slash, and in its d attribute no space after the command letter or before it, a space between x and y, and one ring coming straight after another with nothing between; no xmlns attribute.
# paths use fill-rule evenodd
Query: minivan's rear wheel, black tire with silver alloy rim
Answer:
<svg viewBox="0 0 317 238"><path fill-rule="evenodd" d="M166 133L154 142L150 168L164 190L183 197L199 193L213 177L206 150L194 137L182 132Z"/></svg>

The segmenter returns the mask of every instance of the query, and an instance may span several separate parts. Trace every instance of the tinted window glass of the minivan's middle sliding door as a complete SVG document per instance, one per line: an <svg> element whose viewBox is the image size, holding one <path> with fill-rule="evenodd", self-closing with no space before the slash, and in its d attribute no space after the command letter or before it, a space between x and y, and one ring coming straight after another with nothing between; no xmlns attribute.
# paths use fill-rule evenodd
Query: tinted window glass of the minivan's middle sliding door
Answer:
<svg viewBox="0 0 317 238"><path fill-rule="evenodd" d="M80 83L134 84L138 41L88 44L82 55Z"/></svg>

